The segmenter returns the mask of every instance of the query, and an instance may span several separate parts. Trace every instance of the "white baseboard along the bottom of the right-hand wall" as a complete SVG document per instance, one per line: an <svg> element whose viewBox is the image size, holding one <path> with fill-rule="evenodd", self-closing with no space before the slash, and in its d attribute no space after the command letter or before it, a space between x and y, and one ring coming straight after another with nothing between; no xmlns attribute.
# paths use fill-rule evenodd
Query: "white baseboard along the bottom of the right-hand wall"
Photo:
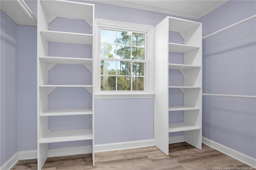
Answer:
<svg viewBox="0 0 256 170"><path fill-rule="evenodd" d="M227 146L224 146L222 144L219 144L217 142L214 142L208 138L202 137L202 143L206 144L228 156L231 156L232 158L235 158L249 166L252 166L256 168L256 159L252 158L250 156L247 156L246 154L243 154L241 152L238 152L234 149L228 148Z"/></svg>

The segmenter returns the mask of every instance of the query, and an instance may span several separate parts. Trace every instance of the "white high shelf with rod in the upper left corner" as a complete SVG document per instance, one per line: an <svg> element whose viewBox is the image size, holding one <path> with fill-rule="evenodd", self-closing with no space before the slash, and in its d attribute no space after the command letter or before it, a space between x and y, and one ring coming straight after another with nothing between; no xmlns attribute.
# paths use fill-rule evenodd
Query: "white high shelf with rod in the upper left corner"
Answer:
<svg viewBox="0 0 256 170"><path fill-rule="evenodd" d="M1 10L16 24L36 26L37 20L24 0L1 0Z"/></svg>

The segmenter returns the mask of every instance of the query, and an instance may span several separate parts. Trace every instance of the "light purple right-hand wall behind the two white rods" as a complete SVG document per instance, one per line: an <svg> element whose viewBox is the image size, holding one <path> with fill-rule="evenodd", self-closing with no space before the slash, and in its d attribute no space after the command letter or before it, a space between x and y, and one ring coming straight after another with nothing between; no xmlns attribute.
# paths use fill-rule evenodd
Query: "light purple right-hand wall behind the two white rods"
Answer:
<svg viewBox="0 0 256 170"><path fill-rule="evenodd" d="M200 18L203 35L256 14L256 1L229 1ZM203 40L203 93L256 95L256 19ZM256 158L256 99L203 97L202 135Z"/></svg>

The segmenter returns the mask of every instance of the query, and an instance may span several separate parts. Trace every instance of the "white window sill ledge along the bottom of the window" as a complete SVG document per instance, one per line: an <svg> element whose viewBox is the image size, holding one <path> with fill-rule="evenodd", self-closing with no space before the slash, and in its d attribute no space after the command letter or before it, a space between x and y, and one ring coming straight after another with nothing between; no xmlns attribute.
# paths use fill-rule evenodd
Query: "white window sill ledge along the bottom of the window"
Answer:
<svg viewBox="0 0 256 170"><path fill-rule="evenodd" d="M154 93L118 93L118 94L94 94L94 99L154 99Z"/></svg>

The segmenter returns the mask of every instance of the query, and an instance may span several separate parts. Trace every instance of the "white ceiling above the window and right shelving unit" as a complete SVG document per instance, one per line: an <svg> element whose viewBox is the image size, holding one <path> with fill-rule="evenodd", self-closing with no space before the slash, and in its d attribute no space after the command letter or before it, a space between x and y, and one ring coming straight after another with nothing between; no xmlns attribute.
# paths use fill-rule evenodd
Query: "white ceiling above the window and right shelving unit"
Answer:
<svg viewBox="0 0 256 170"><path fill-rule="evenodd" d="M104 4L126 6L191 19L199 19L228 0L91 0Z"/></svg>

